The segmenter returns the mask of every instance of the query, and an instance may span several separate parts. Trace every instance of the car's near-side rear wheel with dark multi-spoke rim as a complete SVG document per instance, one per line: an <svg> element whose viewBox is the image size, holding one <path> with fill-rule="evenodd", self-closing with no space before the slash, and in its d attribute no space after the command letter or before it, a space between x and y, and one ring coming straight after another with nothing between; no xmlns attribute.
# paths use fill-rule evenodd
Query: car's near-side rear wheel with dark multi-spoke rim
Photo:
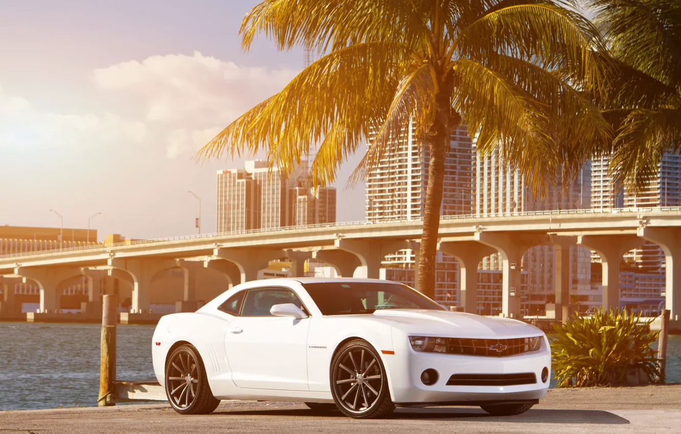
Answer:
<svg viewBox="0 0 681 434"><path fill-rule="evenodd" d="M194 346L178 346L165 364L165 396L179 414L209 414L220 400L210 391L206 368Z"/></svg>

